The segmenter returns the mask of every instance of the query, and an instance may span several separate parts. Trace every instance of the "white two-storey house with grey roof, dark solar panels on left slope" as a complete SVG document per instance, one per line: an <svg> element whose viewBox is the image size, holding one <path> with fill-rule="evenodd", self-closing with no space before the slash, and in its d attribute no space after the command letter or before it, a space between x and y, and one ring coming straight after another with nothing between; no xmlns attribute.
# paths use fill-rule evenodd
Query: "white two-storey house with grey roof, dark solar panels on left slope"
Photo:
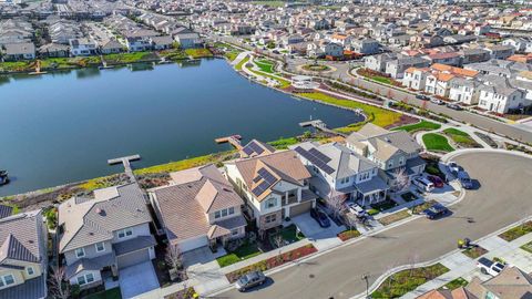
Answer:
<svg viewBox="0 0 532 299"><path fill-rule="evenodd" d="M345 145L306 142L290 148L313 174L310 190L328 203L352 199L369 205L386 198L388 185L379 177L377 164Z"/></svg>

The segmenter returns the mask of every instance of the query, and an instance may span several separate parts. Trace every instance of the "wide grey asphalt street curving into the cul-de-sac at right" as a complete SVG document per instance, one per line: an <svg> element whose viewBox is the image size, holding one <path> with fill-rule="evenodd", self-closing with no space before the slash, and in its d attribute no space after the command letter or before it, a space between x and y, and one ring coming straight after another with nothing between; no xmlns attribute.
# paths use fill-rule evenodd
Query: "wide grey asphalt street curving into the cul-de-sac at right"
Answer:
<svg viewBox="0 0 532 299"><path fill-rule="evenodd" d="M530 216L532 159L503 153L469 153L454 158L480 187L468 190L440 220L419 218L273 275L267 286L216 298L349 298L361 293L386 270L436 259L459 238L478 239Z"/></svg>

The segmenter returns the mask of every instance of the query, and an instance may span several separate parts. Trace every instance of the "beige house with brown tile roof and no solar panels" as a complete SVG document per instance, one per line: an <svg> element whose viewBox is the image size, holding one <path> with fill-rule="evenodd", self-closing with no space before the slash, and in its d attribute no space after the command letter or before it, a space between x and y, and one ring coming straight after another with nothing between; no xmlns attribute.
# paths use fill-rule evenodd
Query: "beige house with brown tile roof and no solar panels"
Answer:
<svg viewBox="0 0 532 299"><path fill-rule="evenodd" d="M172 246L182 252L225 245L246 234L244 200L214 165L171 173L168 186L149 190Z"/></svg>

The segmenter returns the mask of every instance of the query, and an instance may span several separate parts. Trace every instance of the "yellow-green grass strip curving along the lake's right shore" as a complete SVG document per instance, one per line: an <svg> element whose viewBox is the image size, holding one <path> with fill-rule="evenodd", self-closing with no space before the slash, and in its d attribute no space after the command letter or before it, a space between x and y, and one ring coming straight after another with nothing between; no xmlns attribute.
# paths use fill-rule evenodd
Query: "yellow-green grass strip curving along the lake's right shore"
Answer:
<svg viewBox="0 0 532 299"><path fill-rule="evenodd" d="M395 111L385 110L378 106L368 105L357 101L337 99L328 94L311 92L311 93L299 93L298 95L315 100L318 102L324 102L337 106L348 107L348 109L360 109L368 117L372 117L371 123L381 127L386 127L399 122L401 114ZM357 131L357 126L352 126L352 131Z"/></svg>

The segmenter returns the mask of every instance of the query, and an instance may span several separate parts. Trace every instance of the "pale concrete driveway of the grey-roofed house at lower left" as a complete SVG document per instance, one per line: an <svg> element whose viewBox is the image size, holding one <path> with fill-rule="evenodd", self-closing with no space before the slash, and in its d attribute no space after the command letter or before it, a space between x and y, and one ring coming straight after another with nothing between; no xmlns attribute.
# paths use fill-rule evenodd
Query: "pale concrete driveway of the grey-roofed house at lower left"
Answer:
<svg viewBox="0 0 532 299"><path fill-rule="evenodd" d="M146 291L158 288L157 275L152 261L145 261L119 271L122 298L134 298Z"/></svg>

